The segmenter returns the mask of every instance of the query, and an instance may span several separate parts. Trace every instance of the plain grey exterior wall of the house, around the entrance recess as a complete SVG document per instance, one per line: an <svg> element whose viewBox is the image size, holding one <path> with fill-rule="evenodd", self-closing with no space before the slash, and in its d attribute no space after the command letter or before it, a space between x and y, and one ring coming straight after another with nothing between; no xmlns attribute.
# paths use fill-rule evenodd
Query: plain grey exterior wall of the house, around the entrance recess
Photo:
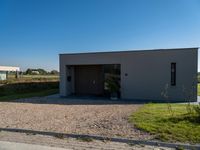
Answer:
<svg viewBox="0 0 200 150"><path fill-rule="evenodd" d="M122 99L166 101L161 93L168 85L168 100L197 100L197 48L100 52L60 55L60 95L73 92L70 65L121 64ZM171 86L171 63L176 63L176 86ZM127 76L125 75L127 74ZM72 79L73 80L73 79ZM192 88L194 87L194 88ZM184 90L185 89L185 90ZM192 91L191 91L192 90ZM189 94L192 92L192 95Z"/></svg>

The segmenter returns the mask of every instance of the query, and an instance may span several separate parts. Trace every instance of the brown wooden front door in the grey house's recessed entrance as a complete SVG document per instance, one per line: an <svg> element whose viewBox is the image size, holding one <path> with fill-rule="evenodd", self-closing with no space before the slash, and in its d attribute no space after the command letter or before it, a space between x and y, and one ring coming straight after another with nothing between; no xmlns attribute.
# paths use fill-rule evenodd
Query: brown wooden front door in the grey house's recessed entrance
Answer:
<svg viewBox="0 0 200 150"><path fill-rule="evenodd" d="M75 93L103 95L103 65L75 66Z"/></svg>

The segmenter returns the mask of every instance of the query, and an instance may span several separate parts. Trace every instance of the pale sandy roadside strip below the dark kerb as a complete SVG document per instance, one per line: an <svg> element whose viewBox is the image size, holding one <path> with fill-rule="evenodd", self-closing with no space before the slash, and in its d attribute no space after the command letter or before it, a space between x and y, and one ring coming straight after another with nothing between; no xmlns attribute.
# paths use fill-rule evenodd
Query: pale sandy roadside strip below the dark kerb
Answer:
<svg viewBox="0 0 200 150"><path fill-rule="evenodd" d="M25 133L14 133L5 131L0 132L0 141L7 142L7 145L4 144L7 147L5 146L2 147L3 145L0 143L0 150L64 150L64 149L65 150L174 150L173 148L167 148L161 146L151 146L151 145L134 144L134 143L128 144L121 142L112 142L109 140L100 141L100 140L89 140L84 138L79 138L79 139L62 138L55 136L53 137L53 136L45 136L38 134L25 134ZM15 143L26 143L25 144L26 147L23 147L24 144L20 144L22 145L20 147L20 145ZM36 147L31 149L33 146L29 145L34 145ZM44 147L38 145L43 145ZM36 149L38 147L39 149Z"/></svg>

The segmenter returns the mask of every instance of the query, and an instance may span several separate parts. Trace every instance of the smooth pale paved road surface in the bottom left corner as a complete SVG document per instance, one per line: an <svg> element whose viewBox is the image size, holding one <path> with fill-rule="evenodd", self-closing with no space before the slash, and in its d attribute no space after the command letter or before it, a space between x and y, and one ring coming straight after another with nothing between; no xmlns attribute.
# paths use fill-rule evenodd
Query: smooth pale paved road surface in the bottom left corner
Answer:
<svg viewBox="0 0 200 150"><path fill-rule="evenodd" d="M72 150L72 149L0 141L0 150Z"/></svg>

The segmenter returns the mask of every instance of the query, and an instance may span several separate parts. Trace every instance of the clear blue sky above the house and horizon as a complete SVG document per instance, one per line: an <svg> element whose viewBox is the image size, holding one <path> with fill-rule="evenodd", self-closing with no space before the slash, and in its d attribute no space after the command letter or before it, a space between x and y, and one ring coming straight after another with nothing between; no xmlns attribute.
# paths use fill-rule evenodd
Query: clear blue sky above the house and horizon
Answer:
<svg viewBox="0 0 200 150"><path fill-rule="evenodd" d="M0 0L0 65L52 70L59 53L199 46L199 0Z"/></svg>

